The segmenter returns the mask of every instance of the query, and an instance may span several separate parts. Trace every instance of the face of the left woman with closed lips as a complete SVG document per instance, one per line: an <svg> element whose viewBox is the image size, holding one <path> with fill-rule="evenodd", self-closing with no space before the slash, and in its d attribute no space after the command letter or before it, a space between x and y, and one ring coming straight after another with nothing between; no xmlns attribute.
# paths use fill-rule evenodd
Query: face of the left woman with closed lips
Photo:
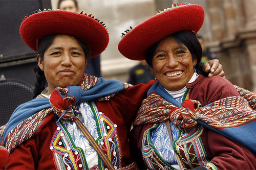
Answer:
<svg viewBox="0 0 256 170"><path fill-rule="evenodd" d="M44 61L39 55L37 58L49 86L47 94L58 86L78 85L87 66L82 47L70 35L57 35L45 52Z"/></svg>

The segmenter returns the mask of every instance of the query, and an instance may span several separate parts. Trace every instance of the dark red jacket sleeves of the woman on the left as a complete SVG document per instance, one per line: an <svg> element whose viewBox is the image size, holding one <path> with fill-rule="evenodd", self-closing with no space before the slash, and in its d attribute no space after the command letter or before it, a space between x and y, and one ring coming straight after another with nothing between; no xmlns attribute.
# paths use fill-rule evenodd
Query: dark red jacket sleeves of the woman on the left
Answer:
<svg viewBox="0 0 256 170"><path fill-rule="evenodd" d="M127 135L141 101L146 98L146 92L154 82L121 91L110 101L95 102L98 111L117 125L122 167L132 163ZM37 135L15 148L8 158L7 169L55 169L49 146L56 128L56 124L51 120Z"/></svg>

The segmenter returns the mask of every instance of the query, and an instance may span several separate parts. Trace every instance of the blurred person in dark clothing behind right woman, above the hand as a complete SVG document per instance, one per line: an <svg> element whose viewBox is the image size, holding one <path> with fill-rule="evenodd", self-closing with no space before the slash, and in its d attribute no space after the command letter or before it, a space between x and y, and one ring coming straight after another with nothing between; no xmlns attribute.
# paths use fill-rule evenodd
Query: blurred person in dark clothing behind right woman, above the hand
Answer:
<svg viewBox="0 0 256 170"><path fill-rule="evenodd" d="M204 37L202 35L198 35L197 38L198 38L198 41L200 42L201 47L202 47L202 58L201 58L201 61L202 62L206 62L206 61L215 59L216 58L216 54L215 53L211 53L211 52L208 51L208 48L206 47L206 44L205 44Z"/></svg>

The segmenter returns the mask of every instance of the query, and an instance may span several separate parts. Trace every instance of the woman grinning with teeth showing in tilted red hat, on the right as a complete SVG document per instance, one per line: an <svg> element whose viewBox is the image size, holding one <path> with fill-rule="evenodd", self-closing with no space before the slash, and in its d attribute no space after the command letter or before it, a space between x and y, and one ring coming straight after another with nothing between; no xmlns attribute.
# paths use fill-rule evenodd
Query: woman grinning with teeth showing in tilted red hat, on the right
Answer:
<svg viewBox="0 0 256 170"><path fill-rule="evenodd" d="M201 75L196 33L203 21L201 6L178 4L119 42L125 57L145 59L158 80L131 132L132 156L141 169L256 168L256 112L228 80Z"/></svg>

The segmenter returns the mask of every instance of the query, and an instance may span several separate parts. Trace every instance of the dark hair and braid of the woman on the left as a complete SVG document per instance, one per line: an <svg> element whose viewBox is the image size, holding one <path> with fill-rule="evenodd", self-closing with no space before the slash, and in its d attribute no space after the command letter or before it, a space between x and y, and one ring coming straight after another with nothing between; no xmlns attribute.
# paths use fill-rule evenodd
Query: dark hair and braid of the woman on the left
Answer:
<svg viewBox="0 0 256 170"><path fill-rule="evenodd" d="M61 35L61 34L52 34L52 35L48 35L41 39L41 41L38 45L37 55L39 55L39 57L42 61L44 61L44 55L45 55L47 48L52 44L53 39L57 35ZM89 53L87 44L83 40L81 40L77 37L74 37L74 38L76 38L78 43L81 45L82 50L85 55L85 58L86 58L86 61L87 61L90 57L90 53ZM38 63L38 59L37 59L37 63ZM35 67L35 77L36 77L36 81L35 81L35 88L33 91L33 99L36 98L36 96L39 95L42 92L42 90L45 89L45 86L47 84L45 73L44 73L44 71L42 71L39 68L38 64Z"/></svg>

